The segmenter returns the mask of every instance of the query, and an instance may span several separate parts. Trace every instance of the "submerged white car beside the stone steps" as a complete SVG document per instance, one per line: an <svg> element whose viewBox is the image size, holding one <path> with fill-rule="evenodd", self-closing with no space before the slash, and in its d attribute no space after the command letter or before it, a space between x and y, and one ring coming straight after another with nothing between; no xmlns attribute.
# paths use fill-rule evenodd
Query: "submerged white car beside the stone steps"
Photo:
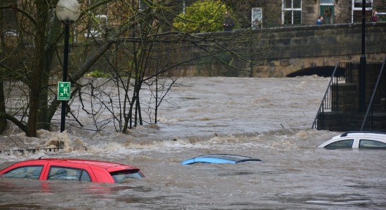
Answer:
<svg viewBox="0 0 386 210"><path fill-rule="evenodd" d="M333 137L318 148L370 148L386 149L386 132L345 132Z"/></svg>

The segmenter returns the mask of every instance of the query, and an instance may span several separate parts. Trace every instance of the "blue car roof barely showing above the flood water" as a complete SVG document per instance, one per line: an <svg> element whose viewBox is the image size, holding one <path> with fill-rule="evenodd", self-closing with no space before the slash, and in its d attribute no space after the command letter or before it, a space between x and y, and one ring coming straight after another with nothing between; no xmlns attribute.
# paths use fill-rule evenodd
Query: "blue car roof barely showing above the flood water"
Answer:
<svg viewBox="0 0 386 210"><path fill-rule="evenodd" d="M197 162L202 163L232 163L235 164L237 162L246 162L246 161L261 161L257 158L249 158L241 155L230 155L230 154L208 154L197 156L196 158L190 158L188 160L184 160L181 163L183 165L194 164Z"/></svg>

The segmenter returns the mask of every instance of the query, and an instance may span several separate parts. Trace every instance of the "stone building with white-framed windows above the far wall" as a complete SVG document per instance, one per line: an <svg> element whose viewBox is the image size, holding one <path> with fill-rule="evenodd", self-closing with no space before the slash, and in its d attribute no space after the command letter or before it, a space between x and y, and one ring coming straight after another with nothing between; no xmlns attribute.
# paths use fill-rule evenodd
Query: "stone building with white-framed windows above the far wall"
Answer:
<svg viewBox="0 0 386 210"><path fill-rule="evenodd" d="M254 20L254 15L262 16L262 20L267 20L265 21L266 27L274 25L272 20L280 22L283 26L315 25L319 15L324 17L324 24L361 22L362 0L279 0L266 2L252 5L256 8L251 8L251 20ZM384 1L366 0L366 2L366 20L369 20L371 11L374 9L380 12L378 14L384 15L382 13L386 11ZM274 19L269 17L272 15L272 8L278 7L279 13L274 13L276 17Z"/></svg>

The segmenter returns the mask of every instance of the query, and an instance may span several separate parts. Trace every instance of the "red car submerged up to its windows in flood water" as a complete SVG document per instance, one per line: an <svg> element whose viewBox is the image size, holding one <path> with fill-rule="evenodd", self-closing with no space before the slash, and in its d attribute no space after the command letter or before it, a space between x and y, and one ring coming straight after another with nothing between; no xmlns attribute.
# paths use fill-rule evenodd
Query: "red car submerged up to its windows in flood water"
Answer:
<svg viewBox="0 0 386 210"><path fill-rule="evenodd" d="M122 183L126 179L141 179L145 176L136 167L116 162L47 158L15 163L2 169L0 177Z"/></svg>

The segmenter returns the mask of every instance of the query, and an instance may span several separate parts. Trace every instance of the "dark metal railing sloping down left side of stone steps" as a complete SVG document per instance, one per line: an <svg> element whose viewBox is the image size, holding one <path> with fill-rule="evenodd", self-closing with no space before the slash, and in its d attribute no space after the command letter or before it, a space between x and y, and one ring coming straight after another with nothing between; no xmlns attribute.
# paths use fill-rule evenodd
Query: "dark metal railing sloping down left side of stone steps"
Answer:
<svg viewBox="0 0 386 210"><path fill-rule="evenodd" d="M330 82L328 83L326 92L324 93L324 97L321 100L321 104L319 106L319 110L317 112L317 116L315 116L314 123L312 123L312 129L317 127L317 120L319 116L319 127L321 130L324 129L324 111L326 109L329 110L337 110L338 109L338 82L345 81L345 83L352 82L352 66L349 62L338 62L335 65L333 73L331 74ZM336 90L331 91L331 86L334 85Z"/></svg>

